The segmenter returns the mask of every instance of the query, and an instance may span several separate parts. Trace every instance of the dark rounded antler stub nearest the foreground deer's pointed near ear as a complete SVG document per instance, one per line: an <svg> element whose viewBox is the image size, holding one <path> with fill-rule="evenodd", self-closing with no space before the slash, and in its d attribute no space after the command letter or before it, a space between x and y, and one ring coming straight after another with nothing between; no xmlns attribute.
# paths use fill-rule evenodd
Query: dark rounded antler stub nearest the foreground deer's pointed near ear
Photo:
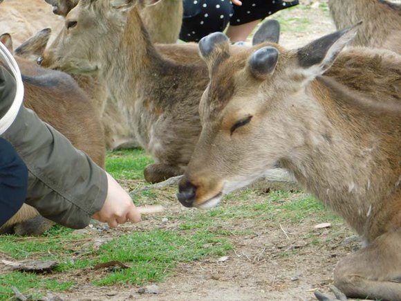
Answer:
<svg viewBox="0 0 401 301"><path fill-rule="evenodd" d="M277 48L266 46L258 49L248 60L248 70L259 80L265 80L276 69L279 60Z"/></svg>

